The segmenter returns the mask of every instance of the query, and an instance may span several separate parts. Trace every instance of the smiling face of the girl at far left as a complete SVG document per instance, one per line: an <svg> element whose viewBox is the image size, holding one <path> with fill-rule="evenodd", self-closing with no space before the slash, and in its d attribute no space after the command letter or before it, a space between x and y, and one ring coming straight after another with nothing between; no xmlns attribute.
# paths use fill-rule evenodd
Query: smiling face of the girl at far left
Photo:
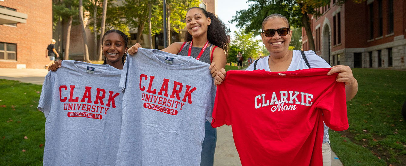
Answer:
<svg viewBox="0 0 406 166"><path fill-rule="evenodd" d="M127 52L123 37L116 32L104 36L102 49L103 55L106 57L106 62L112 63L121 62L124 53Z"/></svg>

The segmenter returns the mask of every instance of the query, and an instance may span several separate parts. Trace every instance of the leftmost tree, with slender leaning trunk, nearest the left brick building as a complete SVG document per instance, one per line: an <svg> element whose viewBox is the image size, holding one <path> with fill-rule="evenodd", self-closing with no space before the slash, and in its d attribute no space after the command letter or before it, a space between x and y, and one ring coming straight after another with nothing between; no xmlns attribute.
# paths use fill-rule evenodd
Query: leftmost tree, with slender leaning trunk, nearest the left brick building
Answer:
<svg viewBox="0 0 406 166"><path fill-rule="evenodd" d="M65 32L62 32L63 36L65 36L63 37L63 48L65 49L63 59L69 60L71 27L78 24L77 21L73 21L73 17L78 16L78 0L53 0L52 2L54 27L57 22L60 22L62 24L62 31L65 30Z"/></svg>

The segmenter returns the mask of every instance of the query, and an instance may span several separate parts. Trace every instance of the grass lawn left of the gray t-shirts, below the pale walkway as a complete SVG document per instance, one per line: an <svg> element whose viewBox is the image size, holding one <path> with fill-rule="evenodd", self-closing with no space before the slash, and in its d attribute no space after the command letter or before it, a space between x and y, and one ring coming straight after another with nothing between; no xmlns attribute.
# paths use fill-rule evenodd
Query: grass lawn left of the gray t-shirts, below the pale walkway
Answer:
<svg viewBox="0 0 406 166"><path fill-rule="evenodd" d="M42 165L45 116L42 85L0 79L0 165Z"/></svg>

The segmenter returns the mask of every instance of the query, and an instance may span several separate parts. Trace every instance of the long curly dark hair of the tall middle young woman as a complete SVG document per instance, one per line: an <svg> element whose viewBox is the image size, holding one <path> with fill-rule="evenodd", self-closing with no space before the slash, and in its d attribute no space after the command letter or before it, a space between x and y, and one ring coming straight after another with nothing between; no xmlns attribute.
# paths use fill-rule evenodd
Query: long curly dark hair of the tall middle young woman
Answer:
<svg viewBox="0 0 406 166"><path fill-rule="evenodd" d="M209 43L223 49L226 52L226 55L228 55L228 28L226 28L225 24L218 19L216 15L207 12L203 8L191 7L190 9L200 9L206 18L211 19L211 23L207 27L207 40L209 40ZM190 9L188 9L188 11ZM192 35L190 35L188 31L186 31L185 40L192 41Z"/></svg>

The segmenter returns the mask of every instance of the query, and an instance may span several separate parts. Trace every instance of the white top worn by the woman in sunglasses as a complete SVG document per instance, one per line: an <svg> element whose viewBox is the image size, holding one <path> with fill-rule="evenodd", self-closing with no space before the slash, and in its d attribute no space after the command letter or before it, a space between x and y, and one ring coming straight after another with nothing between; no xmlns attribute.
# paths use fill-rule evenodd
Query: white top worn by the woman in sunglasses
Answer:
<svg viewBox="0 0 406 166"><path fill-rule="evenodd" d="M314 51L304 51L304 55L306 55L307 62L309 62L310 68L330 68L330 64L328 64L322 57L314 53ZM257 68L256 70L265 70L270 72L268 60L269 56L266 56L264 58L261 58L257 62ZM292 62L290 62L289 68L287 68L287 71L294 71L294 70L300 70L300 69L307 69L309 68L306 65L306 62L304 61L302 57L302 53L300 53L300 50L293 50L293 55L292 55ZM255 62L255 61L254 61ZM254 70L254 64L252 63L250 66L248 66L247 69L248 71ZM326 124L324 124L324 137L323 137L323 143L326 143L328 141L328 127Z"/></svg>

